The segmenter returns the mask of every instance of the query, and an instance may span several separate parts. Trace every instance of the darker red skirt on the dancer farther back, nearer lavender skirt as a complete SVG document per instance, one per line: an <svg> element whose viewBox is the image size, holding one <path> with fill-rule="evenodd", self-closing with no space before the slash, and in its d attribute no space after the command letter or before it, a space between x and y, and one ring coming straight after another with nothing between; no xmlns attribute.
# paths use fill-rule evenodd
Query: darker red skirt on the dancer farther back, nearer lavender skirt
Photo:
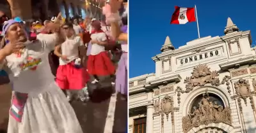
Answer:
<svg viewBox="0 0 256 133"><path fill-rule="evenodd" d="M88 73L96 76L108 76L115 74L115 66L109 58L108 52L100 52L97 55L89 55L87 61Z"/></svg>

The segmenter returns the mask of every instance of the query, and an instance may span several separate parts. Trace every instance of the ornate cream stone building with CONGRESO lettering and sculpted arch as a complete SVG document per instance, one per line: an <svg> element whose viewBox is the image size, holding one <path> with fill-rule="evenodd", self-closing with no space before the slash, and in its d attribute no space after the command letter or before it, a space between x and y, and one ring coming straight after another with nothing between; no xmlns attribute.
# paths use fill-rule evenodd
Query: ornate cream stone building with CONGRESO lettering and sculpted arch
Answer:
<svg viewBox="0 0 256 133"><path fill-rule="evenodd" d="M224 33L178 49L166 37L156 73L129 80L129 133L256 132L252 37L230 18Z"/></svg>

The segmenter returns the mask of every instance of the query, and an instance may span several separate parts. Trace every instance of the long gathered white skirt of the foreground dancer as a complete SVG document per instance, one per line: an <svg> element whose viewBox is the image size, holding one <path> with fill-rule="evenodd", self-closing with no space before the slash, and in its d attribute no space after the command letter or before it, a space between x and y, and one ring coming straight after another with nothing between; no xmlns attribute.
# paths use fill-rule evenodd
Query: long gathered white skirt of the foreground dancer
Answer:
<svg viewBox="0 0 256 133"><path fill-rule="evenodd" d="M29 95L21 123L12 116L9 117L8 133L83 133L83 131L74 109L61 89L49 87L41 94Z"/></svg>

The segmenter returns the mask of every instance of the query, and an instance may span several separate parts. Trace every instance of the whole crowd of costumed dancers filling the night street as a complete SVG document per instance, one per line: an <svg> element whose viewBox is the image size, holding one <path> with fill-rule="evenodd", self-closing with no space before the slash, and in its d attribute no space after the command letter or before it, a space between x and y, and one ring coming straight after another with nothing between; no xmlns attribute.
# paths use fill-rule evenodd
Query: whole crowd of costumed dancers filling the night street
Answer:
<svg viewBox="0 0 256 133"><path fill-rule="evenodd" d="M106 3L104 21L65 20L61 13L44 22L1 16L0 85L12 84L13 92L8 133L82 133L70 102L86 102L105 88L127 100L122 4L126 9L122 1Z"/></svg>

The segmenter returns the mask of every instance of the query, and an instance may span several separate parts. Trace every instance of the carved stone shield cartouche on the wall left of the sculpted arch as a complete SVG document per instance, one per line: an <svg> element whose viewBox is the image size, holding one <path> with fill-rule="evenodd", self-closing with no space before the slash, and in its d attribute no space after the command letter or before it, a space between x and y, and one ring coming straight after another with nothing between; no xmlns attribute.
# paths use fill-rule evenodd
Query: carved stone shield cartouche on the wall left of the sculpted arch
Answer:
<svg viewBox="0 0 256 133"><path fill-rule="evenodd" d="M166 119L168 120L168 115L173 112L173 97L166 95L161 100L161 110L163 110L166 115Z"/></svg>

